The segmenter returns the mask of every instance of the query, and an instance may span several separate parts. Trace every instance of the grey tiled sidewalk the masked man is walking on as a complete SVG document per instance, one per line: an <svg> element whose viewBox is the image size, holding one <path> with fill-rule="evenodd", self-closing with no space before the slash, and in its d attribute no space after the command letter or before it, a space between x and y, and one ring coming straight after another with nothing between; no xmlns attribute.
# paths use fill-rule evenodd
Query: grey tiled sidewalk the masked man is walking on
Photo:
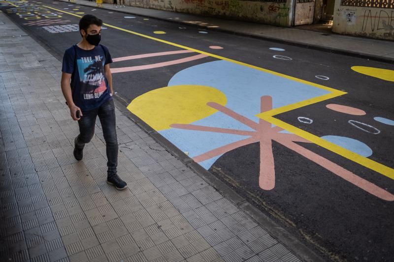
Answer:
<svg viewBox="0 0 394 262"><path fill-rule="evenodd" d="M105 183L99 121L77 162L60 61L0 21L0 261L299 261L118 110L129 189Z"/></svg>

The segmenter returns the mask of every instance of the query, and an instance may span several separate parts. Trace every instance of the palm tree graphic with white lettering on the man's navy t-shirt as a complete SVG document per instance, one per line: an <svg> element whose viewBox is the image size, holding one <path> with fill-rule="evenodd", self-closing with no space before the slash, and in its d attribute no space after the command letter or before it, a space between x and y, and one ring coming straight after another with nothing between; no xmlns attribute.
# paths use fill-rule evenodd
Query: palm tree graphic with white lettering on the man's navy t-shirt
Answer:
<svg viewBox="0 0 394 262"><path fill-rule="evenodd" d="M104 59L102 56L77 59L80 79L80 92L84 100L99 98L107 89L104 78Z"/></svg>

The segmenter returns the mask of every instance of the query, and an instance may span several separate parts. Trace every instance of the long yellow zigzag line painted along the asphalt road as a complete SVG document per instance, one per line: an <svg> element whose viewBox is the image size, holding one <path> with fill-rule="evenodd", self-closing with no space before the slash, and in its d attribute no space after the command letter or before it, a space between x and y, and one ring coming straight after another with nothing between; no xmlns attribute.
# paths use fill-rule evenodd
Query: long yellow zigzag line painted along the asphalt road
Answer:
<svg viewBox="0 0 394 262"><path fill-rule="evenodd" d="M47 7L49 9L53 9L53 10L56 10L56 11L59 11L59 12L63 12L65 14L73 15L73 16L76 16L76 17L79 17L79 18L82 17L82 16L79 16L77 14L66 12L64 10L60 10L60 9L53 8L53 7L50 7L50 6L44 5L44 7ZM108 24L104 24L104 25L106 27L110 27L110 28L113 28L113 29L118 29L118 30L121 30L121 31L124 31L124 32L128 32L128 33L131 33L131 34L134 34L134 35L138 35L138 36L141 36L141 37L144 37L144 38L148 38L148 39L151 39L151 40L154 40L154 41L158 41L158 42L161 42L161 43L164 43L164 44L168 44L168 45L172 45L172 46L179 47L179 48L182 48L182 49L190 50L190 51L193 51L193 52L196 52L196 53L199 53L199 54L204 54L204 55L207 55L209 57L218 58L218 59L221 59L221 60L225 60L225 61L229 61L229 62L232 62L232 63L239 64L239 65L247 66L247 67L259 70L259 71L263 71L265 73L269 73L269 74L272 74L272 75L275 75L275 76L283 77L283 78L286 78L286 79L289 79L289 80L296 81L298 83L310 85L310 86L317 87L317 88L324 89L324 90L327 90L327 91L331 92L329 94L325 94L325 95L322 95L322 96L319 96L319 97L315 97L315 98L312 98L312 99L307 99L307 100L304 100L304 101L300 101L300 102L297 102L295 104L283 106L283 107L280 107L280 108L275 108L275 109L272 109L270 111L264 112L262 114L258 114L257 116L262 118L262 119L264 119L264 120L266 120L266 121L268 121L268 122L270 122L270 123L273 123L273 124L283 128L283 129L285 129L285 130L287 130L289 132L292 132L292 133L294 133L294 134L296 134L296 135L298 135L298 136L300 136L300 137L302 137L302 138L304 138L304 139L306 139L306 140L308 140L310 142L313 142L313 143L315 143L315 144L317 144L319 146L322 146L322 147L324 147L324 148L326 148L326 149L328 149L328 150L330 150L330 151L332 151L334 153L337 153L338 155L341 155L341 156L343 156L343 157L345 157L347 159L350 159L350 160L360 164L361 166L364 166L364 167L369 168L369 169L371 169L371 170L373 170L373 171L375 171L377 173L380 173L382 175L386 175L387 177L390 177L391 179L394 179L394 169L392 169L390 167L387 167L387 166L385 166L383 164L380 164L380 163L378 163L376 161L373 161L373 160L371 160L369 158L363 157L363 156L361 156L359 154L356 154L355 152L352 152L352 151L350 151L350 150L348 150L346 148L343 148L341 146L337 146L335 144L332 144L332 143L330 143L330 142L328 142L328 141L326 141L326 140L324 140L324 139L322 139L322 138L320 138L318 136L315 136L315 135L313 135L313 134L311 134L309 132L306 132L306 131L304 131L302 129L299 129L299 128L291 125L291 124L283 122L282 120L279 120L277 118L272 117L274 115L278 115L278 114L285 113L285 112L288 112L288 111L291 111L291 110L294 110L294 109L297 109L297 108L301 108L301 107L304 107L304 106L307 106L307 105L318 103L318 102L321 102L321 101L324 101L324 100L327 100L327 99L330 99L330 98L333 98L333 97L344 95L344 94L346 94L346 92L343 92L343 91L340 91L340 90L337 90L337 89L334 89L334 88L331 88L331 87L326 87L326 86L322 86L322 85L319 85L319 84L315 84L315 83L312 83L312 82L309 82L309 81L301 80L301 79L298 79L298 78L295 78L295 77L292 77L292 76L288 76L288 75L285 75L285 74L274 72L274 71L271 71L271 70L268 70L268 69L264 69L264 68L261 68L261 67L255 66L255 65L251 65L251 64L244 63L244 62L240 62L240 61L237 61L237 60L234 60L234 59L221 57L221 56L218 56L218 55L215 55L215 54L207 53L207 52L204 52L204 51L201 51L201 50L197 50L197 49L190 48L190 47L187 47L187 46L183 46L183 45L179 45L179 44L172 43L172 42L169 42L169 41L165 41L165 40L160 39L160 38L156 38L156 37L149 36L149 35L146 35L146 34L134 32L134 31L131 31L131 30L128 30L128 29L123 29L123 28L115 27L115 26L108 25Z"/></svg>

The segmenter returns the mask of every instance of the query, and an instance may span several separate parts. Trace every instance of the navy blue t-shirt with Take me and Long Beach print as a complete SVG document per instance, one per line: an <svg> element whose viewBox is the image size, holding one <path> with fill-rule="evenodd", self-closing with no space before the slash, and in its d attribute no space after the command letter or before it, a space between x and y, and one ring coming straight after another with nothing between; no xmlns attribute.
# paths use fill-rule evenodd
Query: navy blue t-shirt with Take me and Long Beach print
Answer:
<svg viewBox="0 0 394 262"><path fill-rule="evenodd" d="M66 50L62 72L74 73L71 76L72 100L82 112L96 109L111 98L104 74L104 65L109 63L112 63L111 55L103 45L95 46L92 50L83 50L74 45Z"/></svg>

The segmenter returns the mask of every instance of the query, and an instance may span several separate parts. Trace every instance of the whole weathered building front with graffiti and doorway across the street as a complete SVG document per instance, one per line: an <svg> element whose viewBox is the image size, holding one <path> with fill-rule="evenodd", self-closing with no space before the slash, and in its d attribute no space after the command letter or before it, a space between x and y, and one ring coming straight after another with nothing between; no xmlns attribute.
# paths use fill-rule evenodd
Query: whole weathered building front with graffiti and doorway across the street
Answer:
<svg viewBox="0 0 394 262"><path fill-rule="evenodd" d="M112 0L104 0L112 2ZM394 0L126 0L127 5L394 40Z"/></svg>

